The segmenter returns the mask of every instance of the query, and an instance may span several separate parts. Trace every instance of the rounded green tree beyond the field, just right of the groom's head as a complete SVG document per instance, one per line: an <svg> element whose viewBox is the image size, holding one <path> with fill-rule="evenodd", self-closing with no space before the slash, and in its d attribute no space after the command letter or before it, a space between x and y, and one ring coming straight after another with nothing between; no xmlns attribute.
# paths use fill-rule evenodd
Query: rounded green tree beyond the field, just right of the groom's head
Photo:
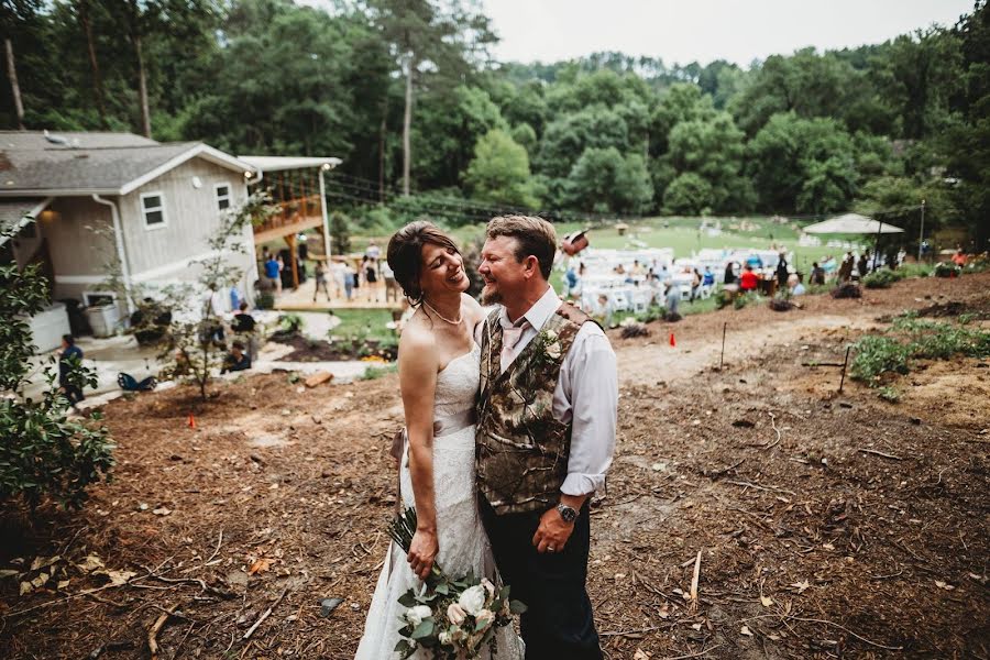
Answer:
<svg viewBox="0 0 990 660"><path fill-rule="evenodd" d="M586 148L566 179L565 201L598 213L640 213L653 199L650 175L639 154L623 157L614 146Z"/></svg>

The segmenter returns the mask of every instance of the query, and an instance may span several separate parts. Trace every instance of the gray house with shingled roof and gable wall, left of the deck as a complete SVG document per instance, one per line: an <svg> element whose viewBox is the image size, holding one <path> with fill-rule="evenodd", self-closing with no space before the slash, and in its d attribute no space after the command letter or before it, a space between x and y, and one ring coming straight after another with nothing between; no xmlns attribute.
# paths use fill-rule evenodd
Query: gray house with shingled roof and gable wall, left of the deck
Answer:
<svg viewBox="0 0 990 660"><path fill-rule="evenodd" d="M0 237L0 260L41 264L54 300L84 305L117 298L105 286L108 264L129 288L194 279L220 213L246 199L256 174L201 142L0 131L0 229L15 231ZM250 295L257 278L250 227L243 240L246 253L230 258Z"/></svg>

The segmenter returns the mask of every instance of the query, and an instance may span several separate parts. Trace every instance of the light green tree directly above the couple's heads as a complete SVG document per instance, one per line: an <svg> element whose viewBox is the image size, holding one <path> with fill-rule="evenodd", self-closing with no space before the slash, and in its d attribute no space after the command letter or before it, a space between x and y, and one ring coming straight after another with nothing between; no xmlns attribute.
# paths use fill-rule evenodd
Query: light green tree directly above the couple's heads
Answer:
<svg viewBox="0 0 990 660"><path fill-rule="evenodd" d="M505 131L485 133L474 146L474 160L464 174L474 197L501 205L536 209L537 198L529 174L529 156Z"/></svg>

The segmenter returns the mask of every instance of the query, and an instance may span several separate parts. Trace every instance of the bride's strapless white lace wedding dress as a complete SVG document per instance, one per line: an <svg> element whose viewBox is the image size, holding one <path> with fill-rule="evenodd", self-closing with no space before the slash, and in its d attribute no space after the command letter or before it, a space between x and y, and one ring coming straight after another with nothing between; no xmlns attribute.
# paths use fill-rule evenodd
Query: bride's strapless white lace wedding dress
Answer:
<svg viewBox="0 0 990 660"><path fill-rule="evenodd" d="M474 407L480 369L481 349L475 345L470 353L455 358L438 374L433 419L452 419ZM403 453L400 488L403 504L414 506L416 501L409 475L408 446ZM437 562L448 575L459 576L471 571L494 580L495 566L488 537L482 527L475 499L473 425L433 439L433 491L440 542ZM398 630L403 627L399 616L405 612L398 598L410 586L420 585L406 561L406 553L394 542L391 543L367 612L356 660L398 658L394 649L399 640ZM514 626L499 628L496 635L498 652L494 660L522 658L521 641ZM413 656L417 660L428 657L422 650ZM482 657L491 658L491 654L485 650Z"/></svg>

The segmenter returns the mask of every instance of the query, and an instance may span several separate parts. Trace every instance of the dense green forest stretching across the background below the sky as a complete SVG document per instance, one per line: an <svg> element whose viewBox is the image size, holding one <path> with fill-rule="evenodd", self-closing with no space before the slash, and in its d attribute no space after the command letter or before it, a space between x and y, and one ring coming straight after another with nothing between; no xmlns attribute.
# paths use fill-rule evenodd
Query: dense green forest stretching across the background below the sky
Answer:
<svg viewBox="0 0 990 660"><path fill-rule="evenodd" d="M875 213L990 239L990 14L748 67L595 53L502 63L470 2L6 0L0 128L327 155L334 208L388 230ZM662 44L657 44L662 54Z"/></svg>

